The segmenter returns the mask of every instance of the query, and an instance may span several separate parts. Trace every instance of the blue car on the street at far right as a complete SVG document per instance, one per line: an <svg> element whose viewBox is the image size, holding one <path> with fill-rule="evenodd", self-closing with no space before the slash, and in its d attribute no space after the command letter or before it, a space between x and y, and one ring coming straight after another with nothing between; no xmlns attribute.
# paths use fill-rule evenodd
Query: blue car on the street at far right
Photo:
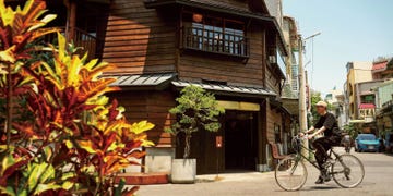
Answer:
<svg viewBox="0 0 393 196"><path fill-rule="evenodd" d="M373 134L359 134L355 139L355 151L379 151L380 140Z"/></svg>

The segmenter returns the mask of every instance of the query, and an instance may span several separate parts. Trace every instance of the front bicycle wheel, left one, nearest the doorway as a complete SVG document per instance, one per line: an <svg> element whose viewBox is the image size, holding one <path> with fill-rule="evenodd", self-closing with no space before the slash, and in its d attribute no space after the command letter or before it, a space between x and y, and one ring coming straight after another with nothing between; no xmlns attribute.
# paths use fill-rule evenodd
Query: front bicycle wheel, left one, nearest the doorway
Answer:
<svg viewBox="0 0 393 196"><path fill-rule="evenodd" d="M307 169L301 160L287 157L279 161L274 175L279 187L285 191L297 191L306 183Z"/></svg>

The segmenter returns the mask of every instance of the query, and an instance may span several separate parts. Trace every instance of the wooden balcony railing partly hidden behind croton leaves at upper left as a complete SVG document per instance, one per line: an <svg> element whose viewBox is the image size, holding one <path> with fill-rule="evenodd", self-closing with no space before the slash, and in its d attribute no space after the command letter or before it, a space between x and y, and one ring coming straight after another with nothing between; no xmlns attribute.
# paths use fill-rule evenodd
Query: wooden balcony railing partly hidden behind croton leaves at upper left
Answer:
<svg viewBox="0 0 393 196"><path fill-rule="evenodd" d="M69 34L69 32L66 32L66 27L58 27L66 37ZM44 41L50 42L50 44L57 44L57 34L48 34L44 37ZM88 52L87 59L94 59L96 58L96 48L97 48L97 38L94 35L91 35L90 33L75 28L74 36L71 40L74 47L79 47L78 54L84 56L86 52Z"/></svg>

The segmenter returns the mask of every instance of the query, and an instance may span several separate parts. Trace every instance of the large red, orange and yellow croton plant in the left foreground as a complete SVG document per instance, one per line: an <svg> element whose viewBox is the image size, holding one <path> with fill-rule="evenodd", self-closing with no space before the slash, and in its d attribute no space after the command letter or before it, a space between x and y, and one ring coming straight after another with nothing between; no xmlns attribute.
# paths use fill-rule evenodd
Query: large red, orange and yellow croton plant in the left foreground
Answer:
<svg viewBox="0 0 393 196"><path fill-rule="evenodd" d="M79 57L43 0L0 0L0 195L132 195L116 175L153 145L105 93L112 65ZM40 37L58 32L56 45Z"/></svg>

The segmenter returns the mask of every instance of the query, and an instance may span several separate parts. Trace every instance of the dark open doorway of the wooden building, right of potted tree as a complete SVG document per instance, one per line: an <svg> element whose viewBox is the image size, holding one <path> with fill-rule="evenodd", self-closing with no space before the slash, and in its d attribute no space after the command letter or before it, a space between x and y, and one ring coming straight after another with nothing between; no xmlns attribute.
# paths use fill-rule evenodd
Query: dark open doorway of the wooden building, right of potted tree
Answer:
<svg viewBox="0 0 393 196"><path fill-rule="evenodd" d="M255 170L258 119L254 112L226 111L225 169Z"/></svg>

